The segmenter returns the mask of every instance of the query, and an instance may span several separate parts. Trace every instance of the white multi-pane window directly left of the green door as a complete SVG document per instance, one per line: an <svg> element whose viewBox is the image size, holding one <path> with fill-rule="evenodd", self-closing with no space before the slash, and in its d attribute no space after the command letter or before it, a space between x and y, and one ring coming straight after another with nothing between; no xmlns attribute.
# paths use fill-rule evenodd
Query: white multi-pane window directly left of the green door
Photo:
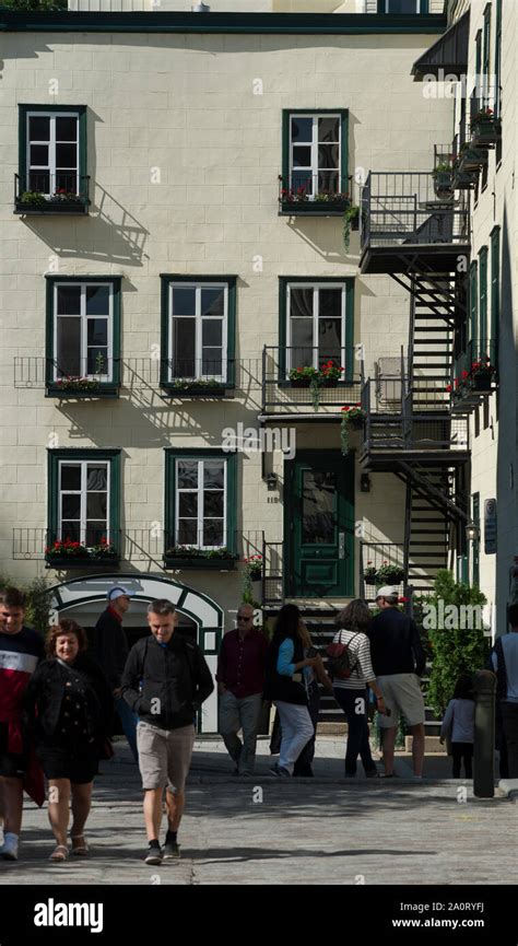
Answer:
<svg viewBox="0 0 518 946"><path fill-rule="evenodd" d="M175 463L175 545L226 546L227 460L185 457Z"/></svg>

